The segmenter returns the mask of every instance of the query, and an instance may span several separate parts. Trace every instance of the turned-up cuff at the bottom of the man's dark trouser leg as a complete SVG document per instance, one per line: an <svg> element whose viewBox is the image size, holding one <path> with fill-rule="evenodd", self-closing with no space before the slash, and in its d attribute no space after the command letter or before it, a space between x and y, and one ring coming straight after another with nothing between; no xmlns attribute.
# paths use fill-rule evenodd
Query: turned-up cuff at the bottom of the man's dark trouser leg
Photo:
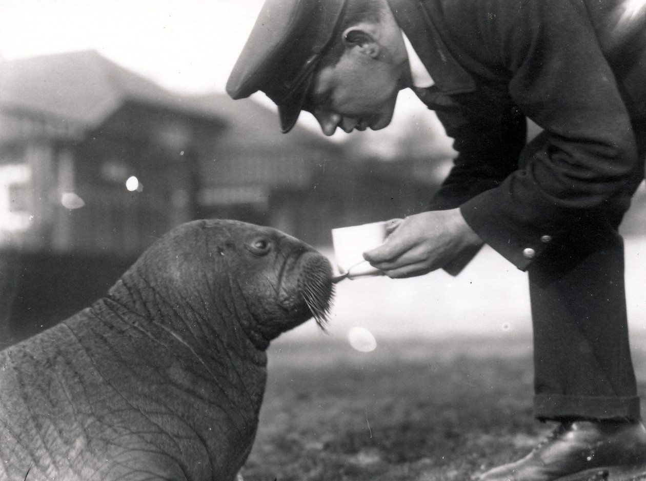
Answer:
<svg viewBox="0 0 646 481"><path fill-rule="evenodd" d="M534 416L539 420L638 420L640 398L537 394L534 396Z"/></svg>

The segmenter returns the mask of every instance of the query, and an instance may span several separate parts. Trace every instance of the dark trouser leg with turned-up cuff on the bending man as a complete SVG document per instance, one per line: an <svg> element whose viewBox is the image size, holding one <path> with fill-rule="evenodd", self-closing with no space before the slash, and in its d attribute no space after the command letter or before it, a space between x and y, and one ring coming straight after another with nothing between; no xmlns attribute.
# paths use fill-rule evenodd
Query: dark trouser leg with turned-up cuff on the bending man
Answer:
<svg viewBox="0 0 646 481"><path fill-rule="evenodd" d="M634 127L643 159L646 122ZM567 239L530 267L534 414L541 420L640 418L618 228L643 168L640 162L607 208L581 216Z"/></svg>

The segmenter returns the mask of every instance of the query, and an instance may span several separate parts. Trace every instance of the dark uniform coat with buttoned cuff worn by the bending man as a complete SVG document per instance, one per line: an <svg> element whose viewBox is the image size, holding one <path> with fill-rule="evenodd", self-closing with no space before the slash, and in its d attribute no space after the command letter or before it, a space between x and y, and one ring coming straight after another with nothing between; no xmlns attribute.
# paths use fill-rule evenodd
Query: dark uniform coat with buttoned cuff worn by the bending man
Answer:
<svg viewBox="0 0 646 481"><path fill-rule="evenodd" d="M643 176L632 123L646 119L646 8L631 17L620 0L389 1L459 153L431 209L461 207L523 270L582 221L621 218ZM525 116L545 131L531 152Z"/></svg>

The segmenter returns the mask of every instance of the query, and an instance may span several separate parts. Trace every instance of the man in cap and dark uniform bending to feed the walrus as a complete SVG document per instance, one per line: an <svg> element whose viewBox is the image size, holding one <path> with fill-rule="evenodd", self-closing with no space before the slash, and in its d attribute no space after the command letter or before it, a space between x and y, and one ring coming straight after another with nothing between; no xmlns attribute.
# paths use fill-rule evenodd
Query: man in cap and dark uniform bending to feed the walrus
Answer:
<svg viewBox="0 0 646 481"><path fill-rule="evenodd" d="M534 412L558 427L481 481L646 475L618 234L645 85L645 0L267 0L229 78L233 98L266 92L284 132L305 110L327 135L386 127L411 87L455 140L429 210L364 257L455 273L486 242L528 271ZM543 128L528 145L526 118Z"/></svg>

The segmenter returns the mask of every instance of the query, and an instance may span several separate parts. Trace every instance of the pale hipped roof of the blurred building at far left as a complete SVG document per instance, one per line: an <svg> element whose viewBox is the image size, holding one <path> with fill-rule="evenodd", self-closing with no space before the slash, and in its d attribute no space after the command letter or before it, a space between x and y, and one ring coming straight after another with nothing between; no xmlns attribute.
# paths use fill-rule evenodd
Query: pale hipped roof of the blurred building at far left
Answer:
<svg viewBox="0 0 646 481"><path fill-rule="evenodd" d="M213 116L94 50L0 63L0 108L4 111L34 111L92 128L127 101L188 116Z"/></svg>

